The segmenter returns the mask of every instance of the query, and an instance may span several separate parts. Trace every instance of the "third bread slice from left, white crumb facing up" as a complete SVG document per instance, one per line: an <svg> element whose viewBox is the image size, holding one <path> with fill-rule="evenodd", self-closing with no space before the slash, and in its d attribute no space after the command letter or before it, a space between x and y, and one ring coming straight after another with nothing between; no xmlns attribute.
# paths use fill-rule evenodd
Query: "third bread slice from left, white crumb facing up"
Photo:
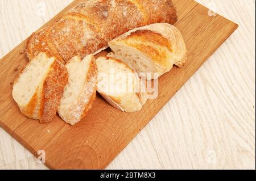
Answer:
<svg viewBox="0 0 256 181"><path fill-rule="evenodd" d="M118 59L99 57L98 92L115 108L125 112L141 110L147 101L141 91L141 79L125 63Z"/></svg>

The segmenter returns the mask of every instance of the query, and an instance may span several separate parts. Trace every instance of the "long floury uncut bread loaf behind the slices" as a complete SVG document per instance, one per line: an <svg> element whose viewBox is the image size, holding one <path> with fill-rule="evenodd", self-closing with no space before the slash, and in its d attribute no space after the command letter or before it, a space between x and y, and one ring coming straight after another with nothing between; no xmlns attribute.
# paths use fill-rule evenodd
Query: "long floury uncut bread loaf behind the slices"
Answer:
<svg viewBox="0 0 256 181"><path fill-rule="evenodd" d="M63 62L96 53L108 41L136 27L177 21L171 0L88 0L27 40L30 60L40 52Z"/></svg>

